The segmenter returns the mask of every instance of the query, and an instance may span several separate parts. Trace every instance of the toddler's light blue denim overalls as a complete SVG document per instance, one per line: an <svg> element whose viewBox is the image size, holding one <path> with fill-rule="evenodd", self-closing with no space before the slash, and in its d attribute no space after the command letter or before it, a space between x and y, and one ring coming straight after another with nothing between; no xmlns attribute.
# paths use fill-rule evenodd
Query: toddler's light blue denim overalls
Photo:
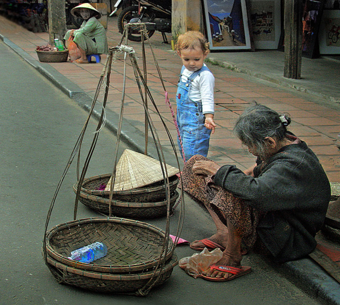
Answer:
<svg viewBox="0 0 340 305"><path fill-rule="evenodd" d="M182 82L182 73L185 67L182 67L180 79L178 82L176 102L177 102L177 124L180 129L185 160L188 161L193 155L208 154L209 138L211 129L204 126L205 116L202 113L202 102L194 102L189 99L191 82L203 71L210 71L206 66L195 71L188 77L186 82ZM180 140L177 136L177 143L182 156ZM183 156L182 156L183 158Z"/></svg>

